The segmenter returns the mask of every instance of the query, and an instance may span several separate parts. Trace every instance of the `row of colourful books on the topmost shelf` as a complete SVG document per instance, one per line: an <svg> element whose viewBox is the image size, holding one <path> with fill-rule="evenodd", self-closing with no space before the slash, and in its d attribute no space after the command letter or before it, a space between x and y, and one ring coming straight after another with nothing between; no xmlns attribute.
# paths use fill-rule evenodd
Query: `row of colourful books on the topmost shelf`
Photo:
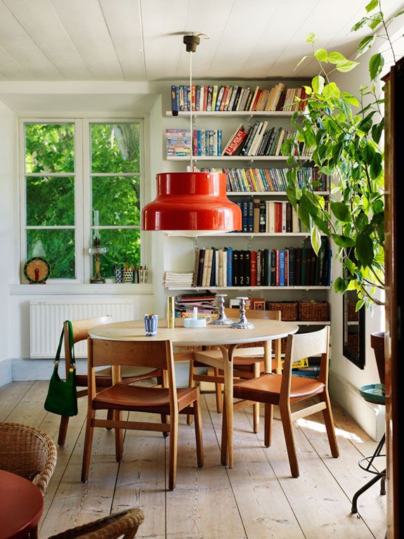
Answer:
<svg viewBox="0 0 404 539"><path fill-rule="evenodd" d="M272 111L304 110L304 88L287 88L282 82L271 90L243 88L225 84L211 86L171 86L171 110L173 112L205 111Z"/></svg>

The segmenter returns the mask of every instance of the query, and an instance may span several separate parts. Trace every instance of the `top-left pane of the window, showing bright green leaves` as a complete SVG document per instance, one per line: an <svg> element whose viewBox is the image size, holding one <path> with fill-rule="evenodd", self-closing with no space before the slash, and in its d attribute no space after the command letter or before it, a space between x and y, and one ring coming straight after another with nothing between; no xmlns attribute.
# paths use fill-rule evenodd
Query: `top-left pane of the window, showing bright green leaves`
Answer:
<svg viewBox="0 0 404 539"><path fill-rule="evenodd" d="M74 124L25 124L25 172L74 172Z"/></svg>

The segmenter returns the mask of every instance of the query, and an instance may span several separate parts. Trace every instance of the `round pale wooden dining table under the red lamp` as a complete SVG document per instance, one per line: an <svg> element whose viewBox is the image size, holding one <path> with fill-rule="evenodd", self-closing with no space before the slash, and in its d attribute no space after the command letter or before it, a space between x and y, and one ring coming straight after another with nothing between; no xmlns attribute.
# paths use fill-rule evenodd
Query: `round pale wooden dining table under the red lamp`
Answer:
<svg viewBox="0 0 404 539"><path fill-rule="evenodd" d="M247 313L248 318L248 313ZM229 326L207 325L200 328L167 327L167 321L159 320L156 337L146 337L143 320L115 322L91 328L90 337L119 341L171 341L174 346L218 346L221 358L204 358L204 363L223 370L224 400L226 402L226 424L228 429L228 465L233 468L233 356L240 344L264 343L264 362L266 372L271 372L271 341L296 333L299 326L293 322L264 320L254 318L254 328L233 330ZM162 327L161 327L162 326ZM226 348L226 346L229 346ZM237 355L239 353L237 352ZM199 361L199 358L198 358ZM223 460L222 464L226 464Z"/></svg>

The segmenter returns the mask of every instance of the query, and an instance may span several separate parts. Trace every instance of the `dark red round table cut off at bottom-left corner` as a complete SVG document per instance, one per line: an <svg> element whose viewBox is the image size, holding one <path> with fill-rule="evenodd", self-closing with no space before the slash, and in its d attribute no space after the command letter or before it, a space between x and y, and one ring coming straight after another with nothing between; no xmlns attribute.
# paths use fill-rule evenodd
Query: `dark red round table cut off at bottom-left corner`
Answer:
<svg viewBox="0 0 404 539"><path fill-rule="evenodd" d="M24 477L0 469L0 539L21 539L37 526L42 493Z"/></svg>

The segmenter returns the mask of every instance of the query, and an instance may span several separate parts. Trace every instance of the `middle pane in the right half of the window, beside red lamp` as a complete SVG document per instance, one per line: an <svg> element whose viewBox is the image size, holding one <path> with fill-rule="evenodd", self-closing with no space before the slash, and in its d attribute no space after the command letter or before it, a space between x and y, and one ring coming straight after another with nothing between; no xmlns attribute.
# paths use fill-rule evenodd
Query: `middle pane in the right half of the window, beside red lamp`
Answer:
<svg viewBox="0 0 404 539"><path fill-rule="evenodd" d="M141 224L141 178L93 176L93 210L98 209L101 226Z"/></svg>

